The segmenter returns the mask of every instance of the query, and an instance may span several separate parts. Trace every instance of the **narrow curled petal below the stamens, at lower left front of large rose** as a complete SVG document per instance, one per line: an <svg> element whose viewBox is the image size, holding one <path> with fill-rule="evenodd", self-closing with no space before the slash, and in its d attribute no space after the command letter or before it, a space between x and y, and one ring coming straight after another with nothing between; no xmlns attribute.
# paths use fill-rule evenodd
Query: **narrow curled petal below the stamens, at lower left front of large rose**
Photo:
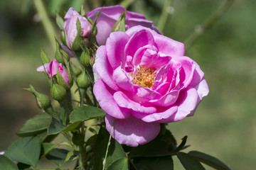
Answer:
<svg viewBox="0 0 256 170"><path fill-rule="evenodd" d="M122 108L130 108L132 111L137 111L139 113L155 113L156 108L152 106L142 106L140 103L132 101L128 98L122 91L117 91L114 93L114 100L117 102L117 105Z"/></svg>

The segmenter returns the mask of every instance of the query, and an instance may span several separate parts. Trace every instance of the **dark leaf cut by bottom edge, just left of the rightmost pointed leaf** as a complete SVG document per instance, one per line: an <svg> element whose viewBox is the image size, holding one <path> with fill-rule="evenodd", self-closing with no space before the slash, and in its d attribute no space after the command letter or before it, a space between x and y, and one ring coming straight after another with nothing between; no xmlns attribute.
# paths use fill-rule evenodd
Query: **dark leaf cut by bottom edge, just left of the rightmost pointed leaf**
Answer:
<svg viewBox="0 0 256 170"><path fill-rule="evenodd" d="M200 164L200 162L198 162L197 159L194 159L189 154L186 154L184 152L178 152L176 155L186 170L201 170L201 169L203 170L203 169L205 169Z"/></svg>

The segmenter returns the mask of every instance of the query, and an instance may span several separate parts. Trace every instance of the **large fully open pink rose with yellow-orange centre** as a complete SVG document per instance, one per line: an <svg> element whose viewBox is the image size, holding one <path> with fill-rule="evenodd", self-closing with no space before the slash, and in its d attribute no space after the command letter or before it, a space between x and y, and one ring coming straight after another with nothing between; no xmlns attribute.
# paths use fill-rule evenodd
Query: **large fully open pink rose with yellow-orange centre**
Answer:
<svg viewBox="0 0 256 170"><path fill-rule="evenodd" d="M160 123L193 115L208 85L183 55L181 42L142 26L113 32L98 48L93 92L115 140L137 147L159 134Z"/></svg>

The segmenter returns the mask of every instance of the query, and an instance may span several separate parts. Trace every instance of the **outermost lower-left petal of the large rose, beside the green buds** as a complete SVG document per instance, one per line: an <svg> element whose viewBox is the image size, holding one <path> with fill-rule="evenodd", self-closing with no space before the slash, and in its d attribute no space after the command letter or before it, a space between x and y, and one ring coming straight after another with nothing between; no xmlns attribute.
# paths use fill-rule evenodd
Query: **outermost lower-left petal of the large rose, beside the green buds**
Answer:
<svg viewBox="0 0 256 170"><path fill-rule="evenodd" d="M119 108L116 101L114 101L114 91L110 89L102 80L96 81L93 86L93 94L97 98L100 107L114 118L129 118L131 113L125 109Z"/></svg>

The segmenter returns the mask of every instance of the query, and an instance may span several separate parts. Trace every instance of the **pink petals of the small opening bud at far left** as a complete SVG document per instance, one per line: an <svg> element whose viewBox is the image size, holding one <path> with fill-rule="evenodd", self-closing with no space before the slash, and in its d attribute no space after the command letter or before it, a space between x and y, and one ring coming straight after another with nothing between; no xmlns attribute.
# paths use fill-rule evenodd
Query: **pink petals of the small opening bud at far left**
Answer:
<svg viewBox="0 0 256 170"><path fill-rule="evenodd" d="M68 72L65 69L65 67L63 66L62 63L58 63L57 60L52 60L50 61L50 63L46 63L40 67L38 67L36 69L36 71L38 72L46 72L50 79L51 77L53 77L54 75L57 74L57 69L60 72L60 75L63 77L63 79L65 79L65 81L67 82L67 84L69 84L69 79L68 79Z"/></svg>

